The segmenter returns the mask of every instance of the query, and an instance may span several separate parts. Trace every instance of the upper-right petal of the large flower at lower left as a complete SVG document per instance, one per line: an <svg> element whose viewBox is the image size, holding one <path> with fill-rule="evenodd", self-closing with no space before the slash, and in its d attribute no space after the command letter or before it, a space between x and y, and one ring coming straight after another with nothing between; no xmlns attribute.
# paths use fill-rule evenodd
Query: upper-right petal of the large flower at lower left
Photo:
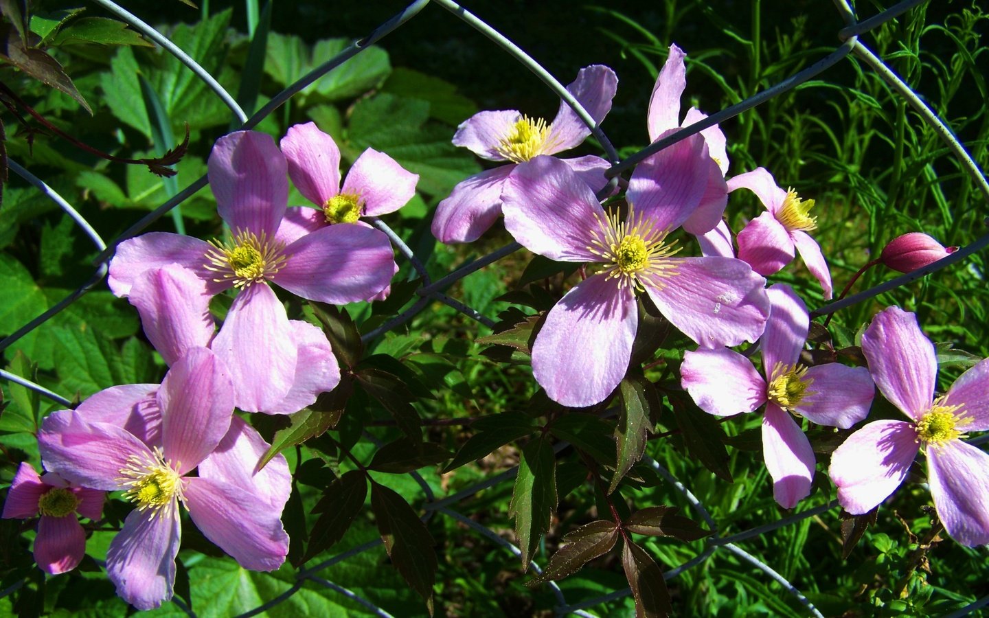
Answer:
<svg viewBox="0 0 989 618"><path fill-rule="evenodd" d="M256 429L234 416L217 449L199 465L199 476L244 487L281 513L292 492L292 474L285 456L280 454L257 470L261 456L270 446Z"/></svg>

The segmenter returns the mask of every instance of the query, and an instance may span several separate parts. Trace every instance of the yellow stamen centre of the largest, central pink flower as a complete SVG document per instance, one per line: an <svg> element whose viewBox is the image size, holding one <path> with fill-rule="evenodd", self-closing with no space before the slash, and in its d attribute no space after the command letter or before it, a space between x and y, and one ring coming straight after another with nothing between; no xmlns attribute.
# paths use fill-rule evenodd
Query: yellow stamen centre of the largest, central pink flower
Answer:
<svg viewBox="0 0 989 618"><path fill-rule="evenodd" d="M676 264L667 258L679 247L665 242L667 231L657 229L652 220L639 217L632 207L625 221L617 213L602 221L597 217L597 229L587 250L601 258L608 278L619 279L619 285L642 291L646 285L660 288L662 280L676 274Z"/></svg>

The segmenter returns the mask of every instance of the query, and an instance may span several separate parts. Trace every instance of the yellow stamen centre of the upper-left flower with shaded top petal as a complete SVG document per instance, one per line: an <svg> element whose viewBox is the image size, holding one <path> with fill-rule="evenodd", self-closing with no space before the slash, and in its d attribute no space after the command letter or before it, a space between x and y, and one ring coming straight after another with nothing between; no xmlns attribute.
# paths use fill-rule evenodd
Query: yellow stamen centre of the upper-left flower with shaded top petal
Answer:
<svg viewBox="0 0 989 618"><path fill-rule="evenodd" d="M246 288L252 283L271 279L288 256L283 253L285 243L268 238L261 232L238 232L228 242L211 240L214 246L206 253L206 268L217 273L216 282L232 283L234 288Z"/></svg>

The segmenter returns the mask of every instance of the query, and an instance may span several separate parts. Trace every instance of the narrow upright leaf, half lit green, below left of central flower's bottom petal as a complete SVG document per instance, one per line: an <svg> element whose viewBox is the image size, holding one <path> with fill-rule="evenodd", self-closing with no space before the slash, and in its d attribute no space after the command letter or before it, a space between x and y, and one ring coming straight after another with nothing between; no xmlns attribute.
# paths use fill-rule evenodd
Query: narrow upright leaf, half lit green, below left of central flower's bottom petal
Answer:
<svg viewBox="0 0 989 618"><path fill-rule="evenodd" d="M521 550L522 571L527 571L539 539L549 530L557 507L556 455L550 439L543 435L522 449L518 476L508 504L515 518L515 536Z"/></svg>

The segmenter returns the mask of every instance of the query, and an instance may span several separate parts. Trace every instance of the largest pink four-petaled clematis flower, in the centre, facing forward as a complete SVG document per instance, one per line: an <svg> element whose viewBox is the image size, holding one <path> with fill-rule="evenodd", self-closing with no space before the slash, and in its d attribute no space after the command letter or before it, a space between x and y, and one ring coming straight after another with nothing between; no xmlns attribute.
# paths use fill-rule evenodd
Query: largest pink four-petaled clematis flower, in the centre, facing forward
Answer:
<svg viewBox="0 0 989 618"><path fill-rule="evenodd" d="M699 343L738 345L763 333L769 301L762 277L741 260L675 258L667 240L703 198L701 166L710 160L703 149L703 140L686 139L637 167L624 221L605 214L590 188L552 157L536 157L508 177L504 222L518 242L553 260L604 265L550 310L533 345L533 375L555 401L591 405L618 386L631 359L638 292Z"/></svg>

